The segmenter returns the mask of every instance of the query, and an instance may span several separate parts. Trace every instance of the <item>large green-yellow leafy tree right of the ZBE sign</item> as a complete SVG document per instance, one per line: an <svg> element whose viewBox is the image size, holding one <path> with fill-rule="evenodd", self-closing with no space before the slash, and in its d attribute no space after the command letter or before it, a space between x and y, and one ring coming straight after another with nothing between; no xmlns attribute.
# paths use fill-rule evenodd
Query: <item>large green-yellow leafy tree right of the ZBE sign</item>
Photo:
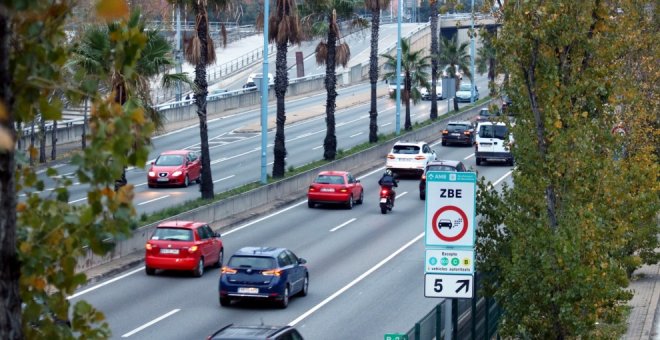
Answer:
<svg viewBox="0 0 660 340"><path fill-rule="evenodd" d="M657 94L644 95L657 93L658 27L642 2L620 1L624 15L599 0L504 6L495 46L519 114L517 167L501 195L480 183L477 251L505 337L616 339L627 274L657 262ZM629 135L612 135L620 122Z"/></svg>

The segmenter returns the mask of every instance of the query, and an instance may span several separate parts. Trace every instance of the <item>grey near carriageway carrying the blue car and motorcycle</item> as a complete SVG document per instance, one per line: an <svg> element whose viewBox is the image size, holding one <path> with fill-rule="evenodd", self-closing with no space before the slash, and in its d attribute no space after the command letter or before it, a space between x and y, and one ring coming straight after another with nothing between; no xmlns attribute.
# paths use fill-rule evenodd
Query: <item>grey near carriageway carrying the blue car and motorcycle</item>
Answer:
<svg viewBox="0 0 660 340"><path fill-rule="evenodd" d="M511 167L477 167L473 148L430 142L439 158L462 160L496 186L511 184ZM219 271L211 269L194 278L147 276L139 267L71 300L85 299L103 311L115 339L203 339L229 323L262 322L294 325L306 339L382 339L406 332L441 300L423 293L425 204L419 182L402 179L394 210L382 215L377 180L383 165L359 176L365 200L352 210L310 209L301 200L221 231L227 256L243 246L281 246L307 259L309 295L293 298L287 309L258 303L221 307Z"/></svg>

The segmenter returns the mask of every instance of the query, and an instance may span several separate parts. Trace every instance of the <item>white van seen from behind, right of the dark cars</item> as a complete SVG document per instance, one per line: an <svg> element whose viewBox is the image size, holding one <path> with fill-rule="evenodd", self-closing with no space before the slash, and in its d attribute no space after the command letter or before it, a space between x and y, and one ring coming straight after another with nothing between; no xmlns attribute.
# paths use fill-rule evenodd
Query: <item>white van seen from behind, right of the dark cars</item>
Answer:
<svg viewBox="0 0 660 340"><path fill-rule="evenodd" d="M513 154L509 145L513 144L513 135L501 122L481 122L477 125L474 156L477 165L491 160L504 161L513 165Z"/></svg>

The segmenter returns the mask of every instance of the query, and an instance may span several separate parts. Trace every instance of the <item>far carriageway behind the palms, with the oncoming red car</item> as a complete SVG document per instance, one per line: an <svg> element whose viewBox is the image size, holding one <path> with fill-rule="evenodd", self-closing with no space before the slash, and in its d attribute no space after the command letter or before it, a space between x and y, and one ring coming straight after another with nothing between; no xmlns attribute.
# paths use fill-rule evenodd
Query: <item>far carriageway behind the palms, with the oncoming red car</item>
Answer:
<svg viewBox="0 0 660 340"><path fill-rule="evenodd" d="M480 92L487 92L487 78L477 77L477 86ZM378 86L387 86L379 82ZM369 84L362 83L339 89L339 97L365 96L368 98ZM318 113L315 118L287 125L285 128L287 148L287 168L298 167L315 160L323 158L323 139L325 138L325 111L320 103L325 102L325 91L310 94L304 98L287 101L287 114L307 113L314 111ZM483 96L483 94L482 94ZM411 108L411 120L416 121L428 119L430 112L430 101L421 101ZM465 104L461 104L463 106ZM378 99L378 123L379 133L391 133L395 130L395 101L388 96ZM441 101L438 105L438 113L443 114L447 110L447 102ZM348 149L352 146L364 143L369 138L369 102L339 109L336 112L336 136L339 149ZM269 113L274 114L275 107L269 107ZM211 155L211 167L216 193L238 187L243 184L258 181L260 178L260 146L259 133L237 133L236 131L247 125L259 122L260 111L258 108L246 110L231 116L209 120L209 145ZM401 106L401 130L403 131L405 106ZM272 170L272 145L275 132L268 133L268 172ZM199 128L192 125L178 131L156 136L153 139L153 148L149 154L150 160L154 160L162 151L173 149L200 150ZM150 162L148 162L149 164ZM148 188L146 184L147 167L144 169L134 168L127 171L128 182L135 186L134 205L138 214L152 213L165 209L175 204L200 197L199 187L192 184L188 188ZM75 168L64 164L57 168L63 176L73 176ZM40 176L44 179L46 190L43 195L52 194L53 181L45 173ZM87 186L75 182L69 187L71 204L82 204L86 201Z"/></svg>

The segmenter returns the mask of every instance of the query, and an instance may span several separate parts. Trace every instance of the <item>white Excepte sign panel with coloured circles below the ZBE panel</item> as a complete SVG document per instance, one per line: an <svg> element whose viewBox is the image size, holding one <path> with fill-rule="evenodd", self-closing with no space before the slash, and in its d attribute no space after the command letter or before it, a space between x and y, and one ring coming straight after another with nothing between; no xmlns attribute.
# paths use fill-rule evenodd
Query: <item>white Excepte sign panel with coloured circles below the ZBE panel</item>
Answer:
<svg viewBox="0 0 660 340"><path fill-rule="evenodd" d="M474 274L474 250L426 249L426 273Z"/></svg>

